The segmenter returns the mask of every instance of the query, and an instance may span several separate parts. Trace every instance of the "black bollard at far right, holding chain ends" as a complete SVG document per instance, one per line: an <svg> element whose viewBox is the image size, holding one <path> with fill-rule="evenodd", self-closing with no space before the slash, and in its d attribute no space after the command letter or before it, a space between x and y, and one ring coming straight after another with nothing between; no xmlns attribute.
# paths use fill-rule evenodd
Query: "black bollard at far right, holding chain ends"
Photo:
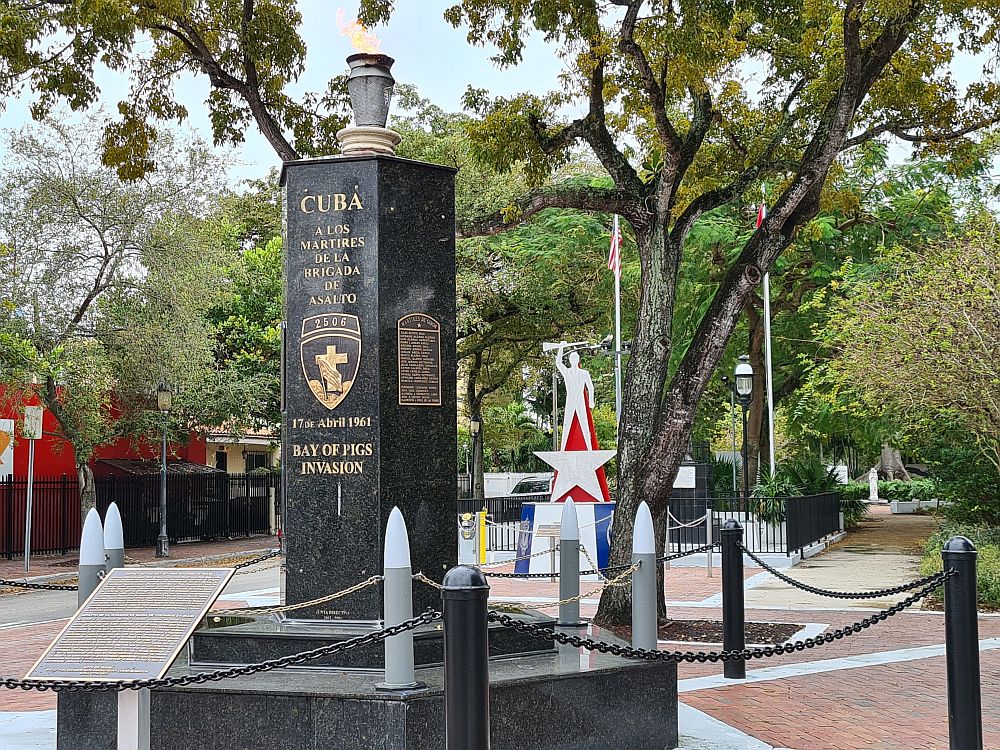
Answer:
<svg viewBox="0 0 1000 750"><path fill-rule="evenodd" d="M979 608L976 547L954 536L941 550L944 569L944 640L948 661L948 747L983 750L983 705L979 685Z"/></svg>

